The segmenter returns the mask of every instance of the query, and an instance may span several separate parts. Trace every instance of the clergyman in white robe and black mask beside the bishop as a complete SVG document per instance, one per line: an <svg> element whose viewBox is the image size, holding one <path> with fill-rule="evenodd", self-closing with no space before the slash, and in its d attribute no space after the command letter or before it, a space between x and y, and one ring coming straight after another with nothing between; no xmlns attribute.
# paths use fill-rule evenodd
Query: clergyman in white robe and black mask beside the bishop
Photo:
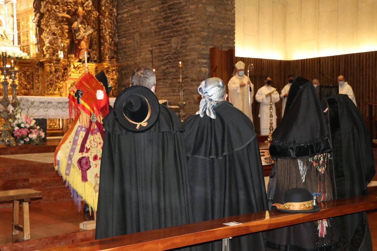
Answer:
<svg viewBox="0 0 377 251"><path fill-rule="evenodd" d="M261 135L270 134L270 96L266 96L267 93L271 92L275 88L271 86L271 77L266 77L264 80L265 85L259 88L255 95L255 100L261 103L259 107L259 120L261 121ZM272 122L274 130L276 128L276 107L275 103L280 100L279 93L272 93Z"/></svg>

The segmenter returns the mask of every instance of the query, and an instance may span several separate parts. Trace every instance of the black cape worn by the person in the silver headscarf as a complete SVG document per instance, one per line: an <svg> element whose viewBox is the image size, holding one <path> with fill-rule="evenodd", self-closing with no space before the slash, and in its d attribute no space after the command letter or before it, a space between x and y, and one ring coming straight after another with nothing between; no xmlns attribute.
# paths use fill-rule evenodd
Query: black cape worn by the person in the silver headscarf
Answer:
<svg viewBox="0 0 377 251"><path fill-rule="evenodd" d="M259 145L253 123L227 101L216 119L189 116L184 125L195 222L267 210ZM264 250L262 233L234 237L231 250ZM197 247L221 250L221 240Z"/></svg>

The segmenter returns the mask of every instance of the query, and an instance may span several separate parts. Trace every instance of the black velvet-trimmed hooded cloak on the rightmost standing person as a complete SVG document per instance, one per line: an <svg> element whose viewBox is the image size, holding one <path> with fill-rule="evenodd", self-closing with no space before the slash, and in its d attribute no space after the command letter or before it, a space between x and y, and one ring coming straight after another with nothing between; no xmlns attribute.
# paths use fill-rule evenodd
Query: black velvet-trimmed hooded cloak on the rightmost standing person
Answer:
<svg viewBox="0 0 377 251"><path fill-rule="evenodd" d="M333 192L336 199L368 194L375 175L372 145L363 118L347 95L323 99L333 148ZM372 250L366 212L336 217L342 246L347 250Z"/></svg>

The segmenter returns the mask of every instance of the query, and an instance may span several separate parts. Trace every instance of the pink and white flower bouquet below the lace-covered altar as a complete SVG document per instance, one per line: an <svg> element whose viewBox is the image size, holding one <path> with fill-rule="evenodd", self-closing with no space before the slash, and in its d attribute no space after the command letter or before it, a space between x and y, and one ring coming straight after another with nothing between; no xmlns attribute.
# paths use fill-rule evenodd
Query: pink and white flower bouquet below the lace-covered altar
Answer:
<svg viewBox="0 0 377 251"><path fill-rule="evenodd" d="M29 109L34 104L32 102L25 114L21 113L20 105L17 105L14 116L9 119L14 131L12 132L16 142L20 144L40 145L44 139L43 130L35 123L33 115L29 115Z"/></svg>

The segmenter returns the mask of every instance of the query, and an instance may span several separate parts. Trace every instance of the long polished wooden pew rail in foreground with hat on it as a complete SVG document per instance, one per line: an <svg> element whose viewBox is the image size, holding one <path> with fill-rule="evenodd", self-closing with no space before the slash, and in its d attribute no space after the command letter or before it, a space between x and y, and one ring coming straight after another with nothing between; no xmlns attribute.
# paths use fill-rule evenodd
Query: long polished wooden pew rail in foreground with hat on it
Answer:
<svg viewBox="0 0 377 251"><path fill-rule="evenodd" d="M167 250L213 240L226 240L232 236L375 209L377 208L377 190L371 189L369 195L323 202L320 205L322 210L312 214L289 214L277 210L264 211L126 234L46 250ZM239 222L242 224L224 225L227 222Z"/></svg>

